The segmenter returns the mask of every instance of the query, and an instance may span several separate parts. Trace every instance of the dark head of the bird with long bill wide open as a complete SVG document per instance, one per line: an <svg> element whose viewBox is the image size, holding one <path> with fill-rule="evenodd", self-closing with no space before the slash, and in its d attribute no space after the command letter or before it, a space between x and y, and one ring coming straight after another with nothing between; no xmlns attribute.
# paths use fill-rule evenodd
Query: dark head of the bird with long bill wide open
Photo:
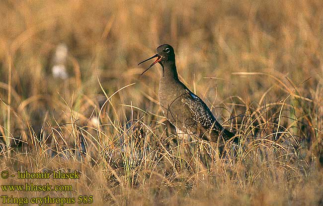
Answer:
<svg viewBox="0 0 323 206"><path fill-rule="evenodd" d="M175 63L175 52L172 46L169 44L162 44L159 47L157 47L157 54L154 56L140 62L138 65L151 60L153 58L156 58L156 60L141 74L143 75L145 72L147 72L152 66L154 66L156 63L160 63L163 67L164 64L170 62Z"/></svg>

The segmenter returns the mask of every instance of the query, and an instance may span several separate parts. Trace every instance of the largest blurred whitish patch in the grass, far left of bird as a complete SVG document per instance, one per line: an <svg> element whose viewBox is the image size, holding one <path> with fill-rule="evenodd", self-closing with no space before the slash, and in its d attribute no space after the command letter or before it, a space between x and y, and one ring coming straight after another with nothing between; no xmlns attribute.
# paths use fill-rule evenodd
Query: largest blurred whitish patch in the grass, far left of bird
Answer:
<svg viewBox="0 0 323 206"><path fill-rule="evenodd" d="M66 71L68 48L65 43L61 43L56 47L54 56L54 66L52 74L54 78L67 79L69 77Z"/></svg>

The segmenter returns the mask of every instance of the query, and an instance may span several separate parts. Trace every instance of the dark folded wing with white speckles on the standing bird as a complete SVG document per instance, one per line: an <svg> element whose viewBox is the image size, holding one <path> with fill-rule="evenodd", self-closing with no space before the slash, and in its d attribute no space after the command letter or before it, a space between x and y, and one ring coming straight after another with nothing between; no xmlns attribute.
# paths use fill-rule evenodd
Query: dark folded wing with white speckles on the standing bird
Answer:
<svg viewBox="0 0 323 206"><path fill-rule="evenodd" d="M218 134L223 132L229 138L234 136L233 133L222 127L222 125L213 116L209 107L201 100L201 98L189 90L186 90L186 92L187 95L186 97L182 98L182 103L189 108L194 121L201 124L205 129L215 130ZM227 138L225 139L227 140Z"/></svg>

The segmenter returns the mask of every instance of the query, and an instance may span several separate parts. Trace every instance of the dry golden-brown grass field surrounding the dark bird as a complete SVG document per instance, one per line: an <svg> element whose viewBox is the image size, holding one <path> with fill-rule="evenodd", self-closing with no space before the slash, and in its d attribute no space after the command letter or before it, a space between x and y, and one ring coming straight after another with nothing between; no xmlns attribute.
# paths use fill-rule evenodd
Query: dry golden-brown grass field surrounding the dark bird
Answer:
<svg viewBox="0 0 323 206"><path fill-rule="evenodd" d="M98 206L323 205L322 8L0 1L1 170L81 172L49 180L73 192L5 195L93 195ZM184 83L241 136L223 156L217 144L177 139L158 104L158 66L140 77L137 63L161 43L174 46ZM52 73L60 44L66 79Z"/></svg>

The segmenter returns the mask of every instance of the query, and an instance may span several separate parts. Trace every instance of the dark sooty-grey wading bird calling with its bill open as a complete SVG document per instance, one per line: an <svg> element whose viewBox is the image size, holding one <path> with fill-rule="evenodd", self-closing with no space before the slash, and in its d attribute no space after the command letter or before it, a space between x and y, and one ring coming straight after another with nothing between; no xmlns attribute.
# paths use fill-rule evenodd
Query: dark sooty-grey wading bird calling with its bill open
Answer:
<svg viewBox="0 0 323 206"><path fill-rule="evenodd" d="M230 140L238 144L239 138L225 129L206 103L179 80L173 47L169 44L162 44L156 50L157 54L138 65L156 58L141 75L155 64L161 65L159 102L163 115L175 126L176 132L195 134L211 142Z"/></svg>

